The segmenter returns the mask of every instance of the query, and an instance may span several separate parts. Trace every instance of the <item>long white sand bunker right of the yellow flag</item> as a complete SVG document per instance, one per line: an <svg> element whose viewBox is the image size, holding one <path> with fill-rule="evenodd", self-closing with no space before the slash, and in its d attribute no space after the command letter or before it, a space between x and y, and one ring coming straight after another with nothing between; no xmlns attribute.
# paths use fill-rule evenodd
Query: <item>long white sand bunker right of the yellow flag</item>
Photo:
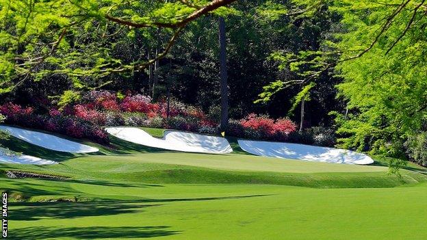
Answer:
<svg viewBox="0 0 427 240"><path fill-rule="evenodd" d="M253 155L322 161L326 163L370 164L374 163L367 155L338 148L326 148L303 144L287 144L284 142L262 142L238 140L240 148Z"/></svg>

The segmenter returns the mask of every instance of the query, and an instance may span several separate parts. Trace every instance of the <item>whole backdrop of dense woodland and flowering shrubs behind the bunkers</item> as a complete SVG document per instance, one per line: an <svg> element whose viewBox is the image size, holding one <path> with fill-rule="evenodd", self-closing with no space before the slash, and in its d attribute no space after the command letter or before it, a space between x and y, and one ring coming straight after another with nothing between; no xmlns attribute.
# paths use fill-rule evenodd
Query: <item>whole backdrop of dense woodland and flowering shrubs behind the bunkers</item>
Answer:
<svg viewBox="0 0 427 240"><path fill-rule="evenodd" d="M0 113L108 124L96 110L427 164L426 14L424 0L0 0Z"/></svg>

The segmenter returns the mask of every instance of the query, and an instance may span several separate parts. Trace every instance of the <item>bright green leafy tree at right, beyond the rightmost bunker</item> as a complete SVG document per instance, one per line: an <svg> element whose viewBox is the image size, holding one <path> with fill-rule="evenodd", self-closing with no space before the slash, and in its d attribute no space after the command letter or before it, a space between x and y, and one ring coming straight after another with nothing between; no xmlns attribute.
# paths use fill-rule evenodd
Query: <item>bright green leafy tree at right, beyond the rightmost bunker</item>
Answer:
<svg viewBox="0 0 427 240"><path fill-rule="evenodd" d="M415 12L419 1L409 2L381 35L400 1L344 1L335 8L348 29L337 34L341 62L336 69L345 79L337 88L350 113L335 113L341 146L400 157L403 142L426 121L427 18Z"/></svg>

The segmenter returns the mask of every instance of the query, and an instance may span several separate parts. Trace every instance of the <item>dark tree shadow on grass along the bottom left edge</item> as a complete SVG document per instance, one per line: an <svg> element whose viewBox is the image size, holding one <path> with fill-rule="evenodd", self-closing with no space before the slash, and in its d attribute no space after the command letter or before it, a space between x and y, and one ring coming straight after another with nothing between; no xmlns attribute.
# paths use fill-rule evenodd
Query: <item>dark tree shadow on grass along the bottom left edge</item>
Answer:
<svg viewBox="0 0 427 240"><path fill-rule="evenodd" d="M119 222L117 224L120 224ZM9 231L10 239L50 239L70 237L72 239L141 239L176 235L182 231L168 230L170 226L105 227L83 228L29 227Z"/></svg>

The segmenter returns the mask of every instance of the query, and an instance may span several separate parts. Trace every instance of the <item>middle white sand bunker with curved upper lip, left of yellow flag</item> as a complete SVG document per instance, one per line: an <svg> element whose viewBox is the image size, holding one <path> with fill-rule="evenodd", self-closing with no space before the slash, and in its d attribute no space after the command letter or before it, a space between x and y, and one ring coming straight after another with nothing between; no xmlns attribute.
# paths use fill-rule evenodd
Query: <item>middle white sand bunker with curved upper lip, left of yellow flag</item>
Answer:
<svg viewBox="0 0 427 240"><path fill-rule="evenodd" d="M135 144L176 150L181 152L229 153L233 152L227 139L182 131L165 131L159 139L135 127L108 127L109 134Z"/></svg>

